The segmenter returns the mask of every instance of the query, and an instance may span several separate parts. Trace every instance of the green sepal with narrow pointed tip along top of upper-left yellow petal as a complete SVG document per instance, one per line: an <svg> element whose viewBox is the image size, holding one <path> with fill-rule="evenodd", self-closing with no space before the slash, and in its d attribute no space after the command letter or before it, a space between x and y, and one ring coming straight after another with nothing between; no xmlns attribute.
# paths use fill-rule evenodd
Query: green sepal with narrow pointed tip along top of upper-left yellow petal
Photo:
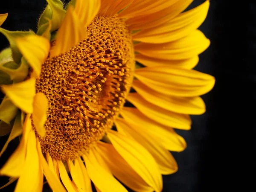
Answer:
<svg viewBox="0 0 256 192"><path fill-rule="evenodd" d="M10 47L12 49L13 61L15 61L15 63L17 63L17 64L20 63L22 54L20 53L20 51L16 45L15 39L19 38L19 37L24 37L26 35L32 35L35 33L32 31L25 31L25 32L23 32L23 31L8 31L3 28L0 28L0 32L3 33L3 35L6 36L6 38L9 40Z"/></svg>

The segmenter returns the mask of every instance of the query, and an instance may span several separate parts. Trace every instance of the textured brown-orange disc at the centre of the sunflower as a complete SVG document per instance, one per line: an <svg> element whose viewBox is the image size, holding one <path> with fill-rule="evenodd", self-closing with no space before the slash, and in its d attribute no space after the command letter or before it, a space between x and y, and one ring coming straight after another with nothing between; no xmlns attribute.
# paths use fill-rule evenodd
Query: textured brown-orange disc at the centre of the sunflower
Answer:
<svg viewBox="0 0 256 192"><path fill-rule="evenodd" d="M47 134L37 136L42 151L58 160L73 160L102 139L133 79L134 50L124 20L95 17L87 34L69 52L48 58L36 81L36 91L49 100Z"/></svg>

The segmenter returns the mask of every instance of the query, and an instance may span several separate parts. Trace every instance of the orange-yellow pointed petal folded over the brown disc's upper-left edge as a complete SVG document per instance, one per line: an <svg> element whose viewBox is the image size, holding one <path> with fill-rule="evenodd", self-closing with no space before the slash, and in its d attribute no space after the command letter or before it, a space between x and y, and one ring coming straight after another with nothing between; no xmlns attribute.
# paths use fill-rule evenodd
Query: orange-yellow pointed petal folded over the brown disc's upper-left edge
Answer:
<svg viewBox="0 0 256 192"><path fill-rule="evenodd" d="M50 51L50 56L55 57L61 53L67 52L84 38L86 38L86 27L87 26L84 26L84 24L81 23L79 17L74 12L73 6L70 6L60 29L58 29L56 43Z"/></svg>

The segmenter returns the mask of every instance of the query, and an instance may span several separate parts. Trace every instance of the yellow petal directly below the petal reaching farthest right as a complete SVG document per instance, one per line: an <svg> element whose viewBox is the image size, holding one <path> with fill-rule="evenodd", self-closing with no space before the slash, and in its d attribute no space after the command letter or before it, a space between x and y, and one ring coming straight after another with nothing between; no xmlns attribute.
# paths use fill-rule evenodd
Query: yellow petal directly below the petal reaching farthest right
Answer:
<svg viewBox="0 0 256 192"><path fill-rule="evenodd" d="M160 108L174 111L176 113L200 115L205 112L205 105L201 97L175 97L168 96L152 90L142 82L133 81L132 87L146 101Z"/></svg>

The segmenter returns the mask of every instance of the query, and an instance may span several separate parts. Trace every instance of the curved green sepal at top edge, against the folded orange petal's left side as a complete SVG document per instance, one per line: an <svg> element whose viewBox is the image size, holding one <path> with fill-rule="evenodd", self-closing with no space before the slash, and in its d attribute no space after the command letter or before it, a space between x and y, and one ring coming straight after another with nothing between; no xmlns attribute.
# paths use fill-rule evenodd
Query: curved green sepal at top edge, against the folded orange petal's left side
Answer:
<svg viewBox="0 0 256 192"><path fill-rule="evenodd" d="M60 28L62 20L66 15L66 10L63 9L63 4L60 0L47 0L47 3L52 9L52 32Z"/></svg>

